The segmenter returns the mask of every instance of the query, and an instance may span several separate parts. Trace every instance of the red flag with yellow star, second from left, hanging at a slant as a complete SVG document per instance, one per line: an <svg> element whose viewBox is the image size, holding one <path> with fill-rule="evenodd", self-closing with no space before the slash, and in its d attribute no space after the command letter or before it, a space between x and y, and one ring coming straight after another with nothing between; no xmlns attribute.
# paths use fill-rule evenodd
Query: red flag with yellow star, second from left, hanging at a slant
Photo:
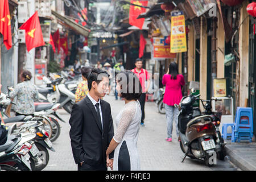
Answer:
<svg viewBox="0 0 256 182"><path fill-rule="evenodd" d="M27 22L23 23L19 29L25 30L27 52L30 52L32 48L44 46L46 44L43 39L38 11L36 11Z"/></svg>

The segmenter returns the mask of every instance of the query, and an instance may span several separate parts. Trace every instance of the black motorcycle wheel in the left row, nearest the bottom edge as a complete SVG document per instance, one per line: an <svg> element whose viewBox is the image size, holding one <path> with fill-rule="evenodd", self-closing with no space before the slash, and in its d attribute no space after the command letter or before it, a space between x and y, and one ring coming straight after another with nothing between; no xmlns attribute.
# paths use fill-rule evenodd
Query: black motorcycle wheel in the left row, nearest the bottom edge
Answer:
<svg viewBox="0 0 256 182"><path fill-rule="evenodd" d="M42 146L42 144L35 142L36 147L39 150L39 158L43 160L43 164L36 163L36 160L30 158L30 165L32 171L42 171L49 162L49 152L46 147ZM32 162L31 162L32 161Z"/></svg>

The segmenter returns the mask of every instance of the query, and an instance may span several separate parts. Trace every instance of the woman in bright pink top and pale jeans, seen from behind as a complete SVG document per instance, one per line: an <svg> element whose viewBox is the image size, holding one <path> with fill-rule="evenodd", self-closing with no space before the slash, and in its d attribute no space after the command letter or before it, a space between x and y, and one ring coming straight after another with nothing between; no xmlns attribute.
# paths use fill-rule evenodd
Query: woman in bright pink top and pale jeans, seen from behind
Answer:
<svg viewBox="0 0 256 182"><path fill-rule="evenodd" d="M177 64L172 62L169 65L167 74L163 76L163 85L166 85L166 91L164 92L163 103L166 109L167 120L167 138L168 142L172 141L172 121L175 121L176 134L179 138L179 131L177 130L178 114L179 110L174 107L175 104L179 104L182 98L181 89L185 85L183 75L179 74Z"/></svg>

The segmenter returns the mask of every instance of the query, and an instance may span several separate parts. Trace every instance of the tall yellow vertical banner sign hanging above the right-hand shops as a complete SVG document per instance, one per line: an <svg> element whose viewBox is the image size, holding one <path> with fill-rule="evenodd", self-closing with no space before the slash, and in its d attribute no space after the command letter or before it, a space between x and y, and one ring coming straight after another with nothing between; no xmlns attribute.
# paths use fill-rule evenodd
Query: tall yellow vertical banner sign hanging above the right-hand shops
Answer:
<svg viewBox="0 0 256 182"><path fill-rule="evenodd" d="M185 17L183 11L176 11L171 15L171 53L187 52Z"/></svg>

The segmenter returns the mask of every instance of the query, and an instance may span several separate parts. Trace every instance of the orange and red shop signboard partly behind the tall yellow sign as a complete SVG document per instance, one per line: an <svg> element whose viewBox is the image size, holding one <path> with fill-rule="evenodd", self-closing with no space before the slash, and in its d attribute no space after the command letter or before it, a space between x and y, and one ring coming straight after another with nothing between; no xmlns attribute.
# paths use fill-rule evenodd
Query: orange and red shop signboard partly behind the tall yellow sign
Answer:
<svg viewBox="0 0 256 182"><path fill-rule="evenodd" d="M166 42L165 42L166 38L167 37L153 39L154 59L176 58L176 53L170 52L170 45L166 44Z"/></svg>

